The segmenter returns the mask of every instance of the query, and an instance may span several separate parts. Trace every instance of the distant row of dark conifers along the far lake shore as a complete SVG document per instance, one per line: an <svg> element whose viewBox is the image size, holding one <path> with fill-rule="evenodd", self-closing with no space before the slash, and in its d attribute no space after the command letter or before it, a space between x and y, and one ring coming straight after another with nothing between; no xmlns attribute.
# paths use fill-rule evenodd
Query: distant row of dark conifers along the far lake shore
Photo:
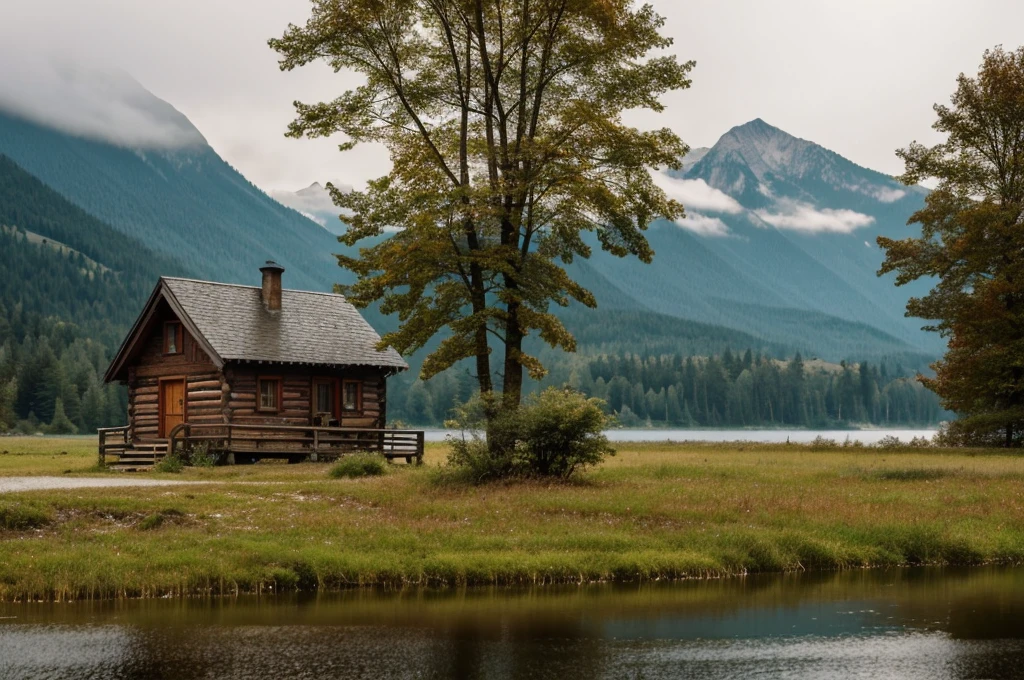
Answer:
<svg viewBox="0 0 1024 680"><path fill-rule="evenodd" d="M604 399L628 427L835 427L934 425L951 417L898 360L839 365L764 356L642 356L629 352L566 357L547 384L567 384ZM472 394L468 371L395 385L388 417L439 424Z"/></svg>

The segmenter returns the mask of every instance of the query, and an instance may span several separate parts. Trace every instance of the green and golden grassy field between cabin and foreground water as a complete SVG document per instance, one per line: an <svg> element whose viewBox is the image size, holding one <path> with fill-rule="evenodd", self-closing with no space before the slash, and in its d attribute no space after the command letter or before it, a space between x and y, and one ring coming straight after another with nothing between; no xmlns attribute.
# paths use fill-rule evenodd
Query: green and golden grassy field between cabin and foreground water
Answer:
<svg viewBox="0 0 1024 680"><path fill-rule="evenodd" d="M445 482L443 459L0 494L0 599L1024 562L1024 458L997 451L621 444L572 483L484 486ZM94 465L94 440L0 438L0 476L112 474Z"/></svg>

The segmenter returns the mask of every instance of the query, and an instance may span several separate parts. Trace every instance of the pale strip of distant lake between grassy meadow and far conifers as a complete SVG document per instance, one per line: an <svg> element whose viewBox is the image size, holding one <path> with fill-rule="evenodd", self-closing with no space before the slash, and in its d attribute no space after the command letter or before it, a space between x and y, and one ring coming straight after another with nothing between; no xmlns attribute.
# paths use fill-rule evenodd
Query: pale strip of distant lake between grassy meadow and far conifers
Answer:
<svg viewBox="0 0 1024 680"><path fill-rule="evenodd" d="M885 436L899 437L907 442L913 437L931 439L935 430L608 430L605 434L611 441L762 441L765 443L808 443L822 436L842 443L847 437L851 441L859 439L865 444L878 443ZM443 441L449 434L458 435L456 430L427 430L427 441Z"/></svg>

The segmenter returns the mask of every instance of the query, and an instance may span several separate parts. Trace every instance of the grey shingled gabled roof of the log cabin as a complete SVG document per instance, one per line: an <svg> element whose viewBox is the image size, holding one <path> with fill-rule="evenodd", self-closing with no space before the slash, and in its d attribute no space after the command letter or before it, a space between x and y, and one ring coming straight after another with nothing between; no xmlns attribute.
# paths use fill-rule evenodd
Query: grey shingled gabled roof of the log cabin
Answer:
<svg viewBox="0 0 1024 680"><path fill-rule="evenodd" d="M409 368L391 347L377 349L380 336L342 295L285 290L281 310L270 312L258 287L164 277L111 363L106 381L120 379L161 299L218 368L227 362Z"/></svg>

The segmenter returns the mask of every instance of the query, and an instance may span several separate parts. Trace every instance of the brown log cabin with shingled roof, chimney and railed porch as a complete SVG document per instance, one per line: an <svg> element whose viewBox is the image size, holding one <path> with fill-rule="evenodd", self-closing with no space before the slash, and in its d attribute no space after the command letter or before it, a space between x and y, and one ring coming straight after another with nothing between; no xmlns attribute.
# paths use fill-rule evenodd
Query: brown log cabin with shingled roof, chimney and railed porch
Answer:
<svg viewBox="0 0 1024 680"><path fill-rule="evenodd" d="M100 430L100 461L153 464L206 442L226 462L376 449L422 460L420 433L387 430L387 378L409 368L341 295L161 278L106 371L128 425Z"/></svg>

